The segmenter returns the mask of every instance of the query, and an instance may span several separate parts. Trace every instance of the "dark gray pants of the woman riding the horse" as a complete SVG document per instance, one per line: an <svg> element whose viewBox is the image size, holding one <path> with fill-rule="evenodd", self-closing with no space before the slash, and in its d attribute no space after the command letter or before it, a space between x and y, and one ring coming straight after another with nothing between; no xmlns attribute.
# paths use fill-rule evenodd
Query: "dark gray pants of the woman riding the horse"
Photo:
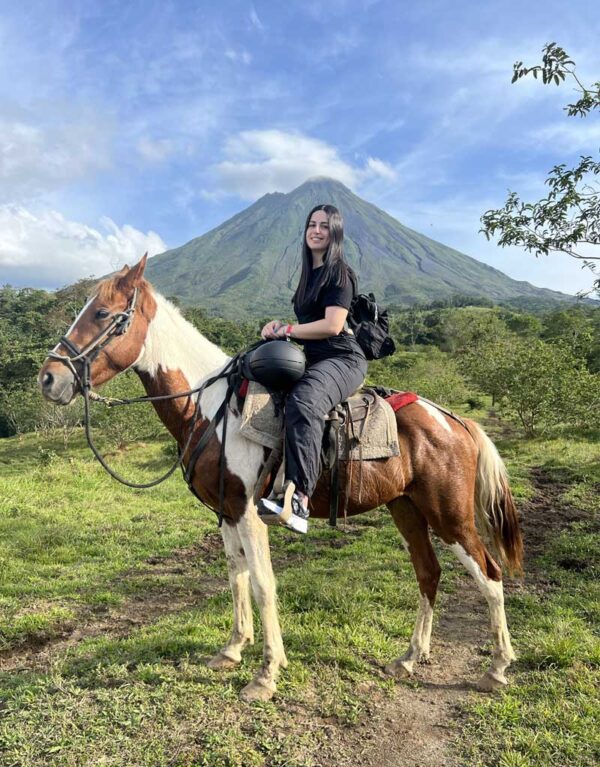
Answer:
<svg viewBox="0 0 600 767"><path fill-rule="evenodd" d="M365 380L367 361L359 355L329 357L310 365L287 396L285 476L310 496L321 472L325 416Z"/></svg>

